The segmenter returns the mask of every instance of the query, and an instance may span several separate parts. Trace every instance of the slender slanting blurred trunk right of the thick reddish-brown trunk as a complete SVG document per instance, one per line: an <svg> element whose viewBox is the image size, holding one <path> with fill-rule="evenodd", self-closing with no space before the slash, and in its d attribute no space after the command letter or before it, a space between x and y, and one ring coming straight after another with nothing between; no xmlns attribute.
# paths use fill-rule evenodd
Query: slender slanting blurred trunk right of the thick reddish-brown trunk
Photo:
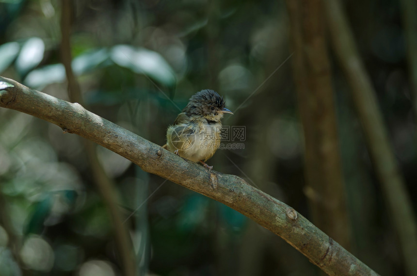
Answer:
<svg viewBox="0 0 417 276"><path fill-rule="evenodd" d="M398 233L407 274L417 276L417 225L410 197L388 140L370 78L360 59L343 9L337 0L324 0L328 26L340 66L351 86L377 177Z"/></svg>

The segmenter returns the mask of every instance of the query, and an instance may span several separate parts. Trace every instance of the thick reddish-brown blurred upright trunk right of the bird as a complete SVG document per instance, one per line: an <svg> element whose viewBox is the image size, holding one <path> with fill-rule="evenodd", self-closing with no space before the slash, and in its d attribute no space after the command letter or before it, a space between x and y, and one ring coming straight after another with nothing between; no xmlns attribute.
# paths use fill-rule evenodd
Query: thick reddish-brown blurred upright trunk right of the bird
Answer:
<svg viewBox="0 0 417 276"><path fill-rule="evenodd" d="M305 194L314 223L350 248L330 65L321 0L287 0L293 74L305 137Z"/></svg>

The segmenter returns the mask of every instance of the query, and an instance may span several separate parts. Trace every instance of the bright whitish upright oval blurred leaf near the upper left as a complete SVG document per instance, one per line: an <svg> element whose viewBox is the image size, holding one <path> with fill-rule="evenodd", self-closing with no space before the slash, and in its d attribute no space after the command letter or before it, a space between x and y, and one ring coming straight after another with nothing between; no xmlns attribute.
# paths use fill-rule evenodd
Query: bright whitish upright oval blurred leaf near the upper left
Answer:
<svg viewBox="0 0 417 276"><path fill-rule="evenodd" d="M39 37L29 38L23 44L16 60L16 69L21 75L26 75L31 69L39 65L44 58L45 44Z"/></svg>

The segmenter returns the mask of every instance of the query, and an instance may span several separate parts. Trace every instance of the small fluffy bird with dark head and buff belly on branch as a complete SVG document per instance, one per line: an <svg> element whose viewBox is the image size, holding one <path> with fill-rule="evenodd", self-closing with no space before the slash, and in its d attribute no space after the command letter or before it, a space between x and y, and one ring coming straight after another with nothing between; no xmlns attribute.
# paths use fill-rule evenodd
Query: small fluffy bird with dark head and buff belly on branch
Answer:
<svg viewBox="0 0 417 276"><path fill-rule="evenodd" d="M206 161L220 146L221 119L225 113L225 100L217 92L201 90L190 98L187 106L176 117L166 132L167 144L163 147L193 162L201 162L209 171Z"/></svg>

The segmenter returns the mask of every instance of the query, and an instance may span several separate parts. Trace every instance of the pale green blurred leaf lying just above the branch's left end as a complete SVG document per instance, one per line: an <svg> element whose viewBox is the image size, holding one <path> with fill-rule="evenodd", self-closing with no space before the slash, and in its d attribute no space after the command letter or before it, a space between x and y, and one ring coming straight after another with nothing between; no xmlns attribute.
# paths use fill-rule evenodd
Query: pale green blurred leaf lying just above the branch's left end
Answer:
<svg viewBox="0 0 417 276"><path fill-rule="evenodd" d="M30 72L24 84L32 88L41 89L48 84L62 82L65 80L65 68L62 64L47 65Z"/></svg>

